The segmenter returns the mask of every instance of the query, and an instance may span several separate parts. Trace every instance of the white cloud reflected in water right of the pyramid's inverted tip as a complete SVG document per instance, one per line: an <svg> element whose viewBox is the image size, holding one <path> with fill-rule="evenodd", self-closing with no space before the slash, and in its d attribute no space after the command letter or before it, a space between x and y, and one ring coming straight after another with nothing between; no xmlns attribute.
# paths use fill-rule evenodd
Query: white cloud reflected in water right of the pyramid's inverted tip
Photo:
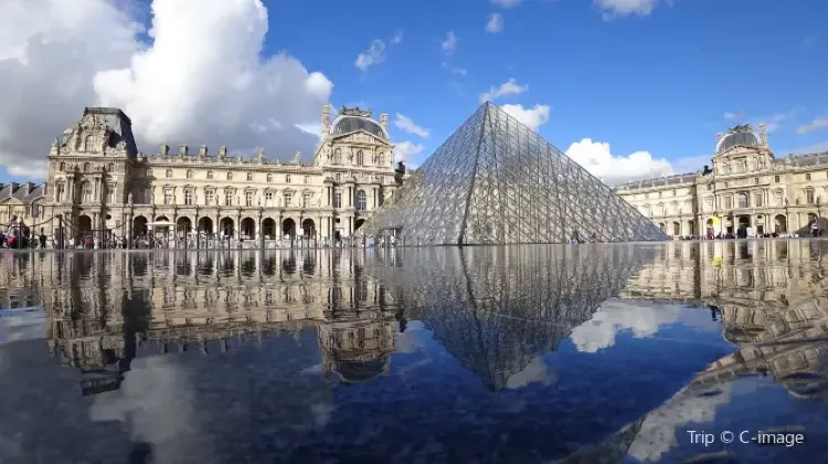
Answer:
<svg viewBox="0 0 828 464"><path fill-rule="evenodd" d="M597 352L615 345L615 337L622 330L631 330L635 338L646 338L678 318L679 309L675 306L609 299L592 319L572 329L570 338L578 351Z"/></svg>

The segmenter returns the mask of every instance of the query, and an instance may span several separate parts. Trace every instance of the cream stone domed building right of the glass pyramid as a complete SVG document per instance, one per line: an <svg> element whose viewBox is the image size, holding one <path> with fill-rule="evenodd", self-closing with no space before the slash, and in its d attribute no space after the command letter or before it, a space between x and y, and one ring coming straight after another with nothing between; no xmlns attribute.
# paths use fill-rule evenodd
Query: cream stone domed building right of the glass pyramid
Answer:
<svg viewBox="0 0 828 464"><path fill-rule="evenodd" d="M805 234L828 200L828 152L776 158L767 130L749 125L716 136L712 170L630 181L617 192L672 236Z"/></svg>

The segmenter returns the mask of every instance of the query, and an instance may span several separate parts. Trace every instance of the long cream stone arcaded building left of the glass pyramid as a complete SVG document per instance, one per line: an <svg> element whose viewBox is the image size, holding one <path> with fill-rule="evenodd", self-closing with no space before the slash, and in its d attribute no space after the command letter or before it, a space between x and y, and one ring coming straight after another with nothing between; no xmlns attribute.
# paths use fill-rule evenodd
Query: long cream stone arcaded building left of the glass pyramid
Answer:
<svg viewBox="0 0 828 464"><path fill-rule="evenodd" d="M322 138L310 164L216 155L206 146L138 152L130 119L117 108L86 108L52 144L46 233L119 238L192 232L230 239L348 238L389 199L395 171L388 116L322 107ZM396 177L396 179L395 179ZM102 232L103 231L103 232ZM174 231L174 232L173 232ZM188 233L189 232L189 233Z"/></svg>

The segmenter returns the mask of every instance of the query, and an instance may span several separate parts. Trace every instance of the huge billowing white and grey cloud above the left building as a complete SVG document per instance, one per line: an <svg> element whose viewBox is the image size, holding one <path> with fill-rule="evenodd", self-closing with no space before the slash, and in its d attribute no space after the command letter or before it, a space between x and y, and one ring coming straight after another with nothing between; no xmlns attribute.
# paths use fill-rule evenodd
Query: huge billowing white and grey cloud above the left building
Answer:
<svg viewBox="0 0 828 464"><path fill-rule="evenodd" d="M42 178L50 143L93 105L124 109L139 148L163 141L314 151L317 138L295 126L319 118L332 83L286 54L259 55L268 27L259 0L155 0L149 45L120 2L7 4L0 165L15 176Z"/></svg>

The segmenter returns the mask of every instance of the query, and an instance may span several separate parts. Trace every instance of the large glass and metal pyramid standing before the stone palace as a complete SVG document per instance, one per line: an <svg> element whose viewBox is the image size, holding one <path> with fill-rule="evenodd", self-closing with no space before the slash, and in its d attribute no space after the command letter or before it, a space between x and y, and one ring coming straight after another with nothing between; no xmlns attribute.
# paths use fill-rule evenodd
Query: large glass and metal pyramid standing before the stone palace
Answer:
<svg viewBox="0 0 828 464"><path fill-rule="evenodd" d="M668 236L584 168L487 102L361 229L413 245Z"/></svg>

